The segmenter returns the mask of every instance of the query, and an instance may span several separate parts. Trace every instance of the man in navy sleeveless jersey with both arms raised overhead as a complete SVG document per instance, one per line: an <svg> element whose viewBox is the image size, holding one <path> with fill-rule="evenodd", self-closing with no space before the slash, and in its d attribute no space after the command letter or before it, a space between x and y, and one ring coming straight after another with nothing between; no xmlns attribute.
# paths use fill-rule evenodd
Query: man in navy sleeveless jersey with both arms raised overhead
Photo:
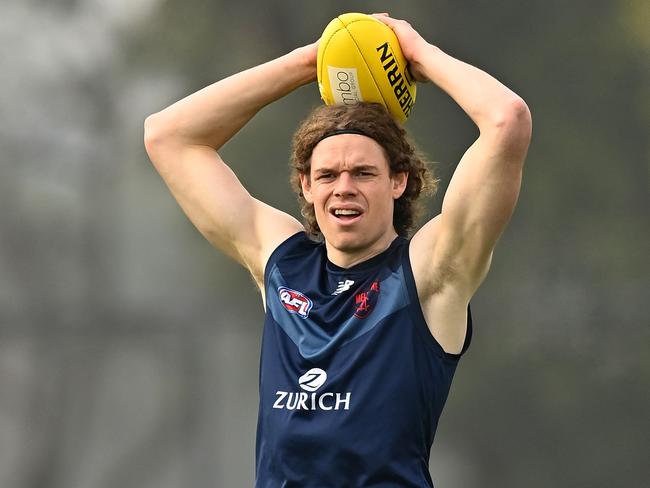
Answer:
<svg viewBox="0 0 650 488"><path fill-rule="evenodd" d="M149 117L148 153L199 231L253 276L266 310L258 487L433 486L438 418L469 344L470 298L519 193L531 119L516 94L396 33L410 71L447 92L480 135L442 211L405 239L431 182L376 105L317 109L294 140L307 230L253 198L217 150L265 105L316 78L317 43Z"/></svg>

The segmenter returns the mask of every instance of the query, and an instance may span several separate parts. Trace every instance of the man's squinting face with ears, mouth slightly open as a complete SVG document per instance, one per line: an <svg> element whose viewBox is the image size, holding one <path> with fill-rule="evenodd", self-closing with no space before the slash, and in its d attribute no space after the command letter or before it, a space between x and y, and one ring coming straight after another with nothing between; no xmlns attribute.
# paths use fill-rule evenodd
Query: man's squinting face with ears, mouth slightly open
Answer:
<svg viewBox="0 0 650 488"><path fill-rule="evenodd" d="M358 134L339 134L319 142L303 194L314 205L326 242L354 253L388 245L396 236L394 200L406 187L406 174L390 174L383 148Z"/></svg>

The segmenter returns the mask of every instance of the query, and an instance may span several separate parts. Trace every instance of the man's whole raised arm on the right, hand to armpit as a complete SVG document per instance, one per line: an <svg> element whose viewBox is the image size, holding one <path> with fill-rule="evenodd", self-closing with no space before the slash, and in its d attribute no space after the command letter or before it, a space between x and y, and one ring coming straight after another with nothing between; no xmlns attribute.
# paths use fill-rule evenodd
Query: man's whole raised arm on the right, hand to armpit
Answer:
<svg viewBox="0 0 650 488"><path fill-rule="evenodd" d="M407 22L378 18L397 34L416 79L449 94L479 129L454 172L441 214L411 243L425 317L443 347L458 352L467 303L517 202L531 116L524 101L489 74L429 44Z"/></svg>

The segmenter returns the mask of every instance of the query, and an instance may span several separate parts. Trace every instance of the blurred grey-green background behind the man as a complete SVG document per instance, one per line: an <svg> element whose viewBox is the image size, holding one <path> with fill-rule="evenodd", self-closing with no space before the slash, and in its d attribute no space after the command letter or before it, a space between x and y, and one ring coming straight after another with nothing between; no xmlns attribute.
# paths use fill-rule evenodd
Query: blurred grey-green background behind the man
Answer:
<svg viewBox="0 0 650 488"><path fill-rule="evenodd" d="M142 123L346 11L411 21L533 113L519 206L434 444L436 486L648 486L643 0L4 0L0 486L252 485L260 300L177 208ZM315 85L298 90L223 151L294 215L289 140L318 103ZM476 137L430 85L408 129L445 183Z"/></svg>

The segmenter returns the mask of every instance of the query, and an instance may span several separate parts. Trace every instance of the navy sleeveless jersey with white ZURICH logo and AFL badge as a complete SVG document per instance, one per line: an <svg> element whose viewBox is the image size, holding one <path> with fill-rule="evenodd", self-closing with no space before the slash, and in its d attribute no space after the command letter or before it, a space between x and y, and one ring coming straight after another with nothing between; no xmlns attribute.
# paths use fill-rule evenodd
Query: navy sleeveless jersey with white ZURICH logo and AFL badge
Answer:
<svg viewBox="0 0 650 488"><path fill-rule="evenodd" d="M398 237L344 269L301 232L271 255L257 488L433 486L429 452L460 354L427 328L408 246ZM470 337L468 310L463 352Z"/></svg>

